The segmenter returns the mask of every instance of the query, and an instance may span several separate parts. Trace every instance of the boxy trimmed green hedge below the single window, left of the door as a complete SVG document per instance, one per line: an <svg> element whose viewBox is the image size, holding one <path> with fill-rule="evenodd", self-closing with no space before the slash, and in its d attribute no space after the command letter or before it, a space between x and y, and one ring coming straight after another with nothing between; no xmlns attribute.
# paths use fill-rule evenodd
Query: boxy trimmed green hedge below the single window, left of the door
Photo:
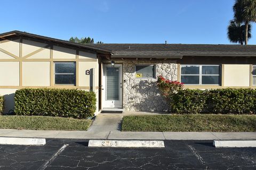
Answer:
<svg viewBox="0 0 256 170"><path fill-rule="evenodd" d="M76 89L20 89L14 101L16 115L87 118L96 110L95 93Z"/></svg>

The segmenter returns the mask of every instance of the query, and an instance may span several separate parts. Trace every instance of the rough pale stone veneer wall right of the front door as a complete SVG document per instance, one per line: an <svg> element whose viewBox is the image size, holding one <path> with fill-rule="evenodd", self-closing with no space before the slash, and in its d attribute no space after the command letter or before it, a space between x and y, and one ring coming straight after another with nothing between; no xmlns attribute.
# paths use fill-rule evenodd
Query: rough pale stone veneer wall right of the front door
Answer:
<svg viewBox="0 0 256 170"><path fill-rule="evenodd" d="M162 75L169 80L177 80L178 64L172 60L163 61L139 61L123 60L115 61L123 63L123 107L125 111L167 111L165 100L159 94L156 85L157 79L135 78L136 64L155 64L156 77Z"/></svg>

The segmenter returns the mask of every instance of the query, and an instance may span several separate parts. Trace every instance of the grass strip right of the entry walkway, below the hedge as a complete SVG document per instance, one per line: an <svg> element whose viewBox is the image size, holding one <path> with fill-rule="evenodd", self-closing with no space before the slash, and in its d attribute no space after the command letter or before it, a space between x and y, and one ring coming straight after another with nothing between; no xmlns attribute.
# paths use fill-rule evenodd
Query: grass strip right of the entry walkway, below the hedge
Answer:
<svg viewBox="0 0 256 170"><path fill-rule="evenodd" d="M256 132L256 115L124 116L122 131L131 132Z"/></svg>

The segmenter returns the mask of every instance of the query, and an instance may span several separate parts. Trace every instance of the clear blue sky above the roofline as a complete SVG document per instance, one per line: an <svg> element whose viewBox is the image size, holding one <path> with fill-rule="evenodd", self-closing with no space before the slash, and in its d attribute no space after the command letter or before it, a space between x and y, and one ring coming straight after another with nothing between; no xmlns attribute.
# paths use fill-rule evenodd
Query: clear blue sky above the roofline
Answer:
<svg viewBox="0 0 256 170"><path fill-rule="evenodd" d="M104 43L230 44L234 0L1 0L0 32ZM256 44L256 30L249 44Z"/></svg>

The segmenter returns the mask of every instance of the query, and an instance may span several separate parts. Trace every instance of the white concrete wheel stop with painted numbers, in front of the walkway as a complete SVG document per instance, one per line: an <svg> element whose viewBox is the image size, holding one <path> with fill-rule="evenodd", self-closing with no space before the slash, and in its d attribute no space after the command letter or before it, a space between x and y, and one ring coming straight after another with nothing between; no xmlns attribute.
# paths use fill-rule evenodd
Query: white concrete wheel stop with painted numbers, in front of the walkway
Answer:
<svg viewBox="0 0 256 170"><path fill-rule="evenodd" d="M162 140L89 140L88 147L164 148Z"/></svg>

